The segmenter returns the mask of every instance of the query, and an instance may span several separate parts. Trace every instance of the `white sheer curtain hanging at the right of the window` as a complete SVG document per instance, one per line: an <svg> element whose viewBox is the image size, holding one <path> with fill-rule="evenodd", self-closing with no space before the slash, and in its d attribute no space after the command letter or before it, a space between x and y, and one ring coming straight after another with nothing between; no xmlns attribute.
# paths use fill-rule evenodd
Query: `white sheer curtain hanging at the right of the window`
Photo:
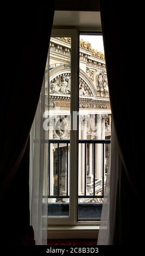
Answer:
<svg viewBox="0 0 145 256"><path fill-rule="evenodd" d="M97 245L112 245L115 228L117 187L121 183L121 159L118 153L114 125L112 125L109 168Z"/></svg>

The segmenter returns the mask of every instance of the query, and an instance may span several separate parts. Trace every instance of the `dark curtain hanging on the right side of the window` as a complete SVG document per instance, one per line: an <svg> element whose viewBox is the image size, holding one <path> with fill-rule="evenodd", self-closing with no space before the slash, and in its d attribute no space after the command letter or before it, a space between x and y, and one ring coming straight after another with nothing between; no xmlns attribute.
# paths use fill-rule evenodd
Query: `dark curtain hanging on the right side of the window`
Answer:
<svg viewBox="0 0 145 256"><path fill-rule="evenodd" d="M122 160L121 180L116 180L114 245L144 242L142 10L140 1L100 1L111 111Z"/></svg>

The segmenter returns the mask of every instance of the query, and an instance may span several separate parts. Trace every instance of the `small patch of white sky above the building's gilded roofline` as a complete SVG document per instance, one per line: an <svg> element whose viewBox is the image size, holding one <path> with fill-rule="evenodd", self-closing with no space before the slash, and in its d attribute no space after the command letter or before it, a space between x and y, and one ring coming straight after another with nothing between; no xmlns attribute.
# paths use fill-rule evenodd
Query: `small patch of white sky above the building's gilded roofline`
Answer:
<svg viewBox="0 0 145 256"><path fill-rule="evenodd" d="M94 50L104 53L103 36L102 35L80 35L80 39L91 42Z"/></svg>

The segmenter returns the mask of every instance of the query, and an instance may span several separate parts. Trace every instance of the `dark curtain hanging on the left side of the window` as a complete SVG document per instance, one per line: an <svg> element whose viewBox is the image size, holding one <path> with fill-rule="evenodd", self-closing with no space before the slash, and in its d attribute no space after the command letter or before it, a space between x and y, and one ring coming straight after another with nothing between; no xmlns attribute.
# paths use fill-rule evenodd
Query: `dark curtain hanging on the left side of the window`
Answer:
<svg viewBox="0 0 145 256"><path fill-rule="evenodd" d="M1 242L30 244L29 132L45 72L54 1L33 7L5 3L1 14Z"/></svg>

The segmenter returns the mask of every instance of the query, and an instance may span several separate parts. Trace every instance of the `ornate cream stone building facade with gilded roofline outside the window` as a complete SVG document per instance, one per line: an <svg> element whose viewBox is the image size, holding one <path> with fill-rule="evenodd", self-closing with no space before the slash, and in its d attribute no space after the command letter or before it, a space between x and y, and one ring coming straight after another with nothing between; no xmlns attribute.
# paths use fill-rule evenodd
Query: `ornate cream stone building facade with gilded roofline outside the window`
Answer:
<svg viewBox="0 0 145 256"><path fill-rule="evenodd" d="M69 155L71 117L70 98L73 90L71 81L71 38L53 37L49 46L49 139L60 139L62 143L50 145L50 194L51 202L68 202L69 196ZM79 47L79 139L110 139L111 109L105 58L102 52L94 50L90 42L80 39ZM94 148L96 155L94 156ZM86 151L86 153L85 153ZM59 159L58 159L59 154ZM78 194L102 193L102 179L108 169L109 145L105 145L104 168L102 166L101 144L79 144L78 153ZM95 161L95 170L93 162ZM85 171L86 164L86 171ZM86 180L85 180L86 176ZM95 176L95 177L94 177ZM58 182L59 179L59 182ZM94 182L95 180L95 182ZM86 192L85 192L86 187ZM62 197L65 198L62 198ZM100 198L79 198L79 202L100 202Z"/></svg>

